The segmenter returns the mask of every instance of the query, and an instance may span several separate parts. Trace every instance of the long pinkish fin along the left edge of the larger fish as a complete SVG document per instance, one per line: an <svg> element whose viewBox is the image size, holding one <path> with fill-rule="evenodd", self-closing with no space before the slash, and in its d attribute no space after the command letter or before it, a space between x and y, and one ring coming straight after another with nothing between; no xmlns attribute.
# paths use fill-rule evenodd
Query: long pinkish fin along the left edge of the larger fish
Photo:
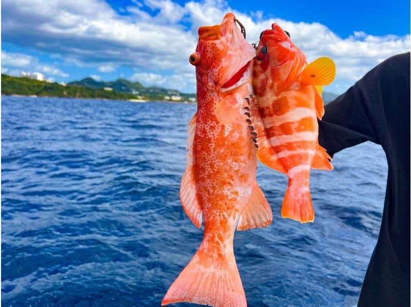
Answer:
<svg viewBox="0 0 411 307"><path fill-rule="evenodd" d="M187 166L180 184L180 201L183 206L185 214L196 225L201 227L202 209L197 199L197 188L194 181L194 167L193 167L193 144L196 129L197 113L189 122L189 129L187 130Z"/></svg>

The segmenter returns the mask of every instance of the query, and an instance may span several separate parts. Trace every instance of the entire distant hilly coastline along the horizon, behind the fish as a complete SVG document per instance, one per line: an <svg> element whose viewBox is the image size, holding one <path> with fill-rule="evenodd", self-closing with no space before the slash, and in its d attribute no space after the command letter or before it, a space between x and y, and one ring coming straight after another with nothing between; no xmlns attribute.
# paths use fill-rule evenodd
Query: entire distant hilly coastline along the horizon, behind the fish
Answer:
<svg viewBox="0 0 411 307"><path fill-rule="evenodd" d="M157 86L145 87L139 82L126 79L104 82L92 78L73 81L68 84L47 82L16 77L2 73L2 95L25 97L57 97L128 100L131 102L172 102L197 103L196 94L181 93L177 90ZM323 92L324 103L337 98L337 94Z"/></svg>

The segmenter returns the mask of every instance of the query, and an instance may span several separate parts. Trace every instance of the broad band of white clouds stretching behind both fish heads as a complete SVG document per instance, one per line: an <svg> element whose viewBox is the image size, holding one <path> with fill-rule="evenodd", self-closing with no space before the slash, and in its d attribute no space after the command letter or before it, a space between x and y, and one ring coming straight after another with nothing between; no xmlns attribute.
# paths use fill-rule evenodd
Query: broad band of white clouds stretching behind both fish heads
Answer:
<svg viewBox="0 0 411 307"><path fill-rule="evenodd" d="M145 12L144 5L155 15ZM139 72L133 78L141 76L152 84L175 85L191 92L195 91L195 73L187 59L195 49L197 29L220 23L229 11L246 27L250 43L277 22L291 33L309 62L330 56L337 64L337 79L330 88L338 92L389 56L410 49L409 35L373 36L356 31L342 39L319 23L267 18L261 11L245 14L221 0L190 1L184 6L171 0L135 0L125 8L129 15L119 15L103 0L3 0L2 9L7 12L2 18L6 42L59 54L78 66L95 65L101 72L109 72L109 65L134 67L146 75ZM192 26L186 29L182 24ZM174 76L161 80L159 71L171 71Z"/></svg>

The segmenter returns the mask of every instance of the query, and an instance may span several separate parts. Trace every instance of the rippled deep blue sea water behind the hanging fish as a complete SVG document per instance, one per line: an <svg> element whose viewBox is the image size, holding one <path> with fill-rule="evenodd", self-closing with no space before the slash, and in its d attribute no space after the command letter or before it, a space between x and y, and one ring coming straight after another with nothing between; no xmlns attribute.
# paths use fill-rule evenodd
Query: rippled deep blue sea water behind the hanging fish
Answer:
<svg viewBox="0 0 411 307"><path fill-rule="evenodd" d="M2 97L4 306L160 305L202 238L178 196L195 110ZM372 143L333 165L312 171L312 224L281 219L287 179L259 165L274 219L234 240L249 306L357 303L387 165Z"/></svg>

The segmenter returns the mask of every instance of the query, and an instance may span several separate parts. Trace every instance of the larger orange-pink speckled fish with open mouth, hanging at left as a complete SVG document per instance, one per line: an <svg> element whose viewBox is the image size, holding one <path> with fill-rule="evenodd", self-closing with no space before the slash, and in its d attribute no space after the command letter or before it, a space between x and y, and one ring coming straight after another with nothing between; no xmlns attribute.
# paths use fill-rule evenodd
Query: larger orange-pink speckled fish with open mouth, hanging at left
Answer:
<svg viewBox="0 0 411 307"><path fill-rule="evenodd" d="M248 111L255 50L236 22L229 13L220 25L200 27L196 52L190 56L196 66L198 107L189 123L180 200L197 227L204 216L204 235L162 305L246 306L234 231L265 227L272 220L255 179L257 146Z"/></svg>

